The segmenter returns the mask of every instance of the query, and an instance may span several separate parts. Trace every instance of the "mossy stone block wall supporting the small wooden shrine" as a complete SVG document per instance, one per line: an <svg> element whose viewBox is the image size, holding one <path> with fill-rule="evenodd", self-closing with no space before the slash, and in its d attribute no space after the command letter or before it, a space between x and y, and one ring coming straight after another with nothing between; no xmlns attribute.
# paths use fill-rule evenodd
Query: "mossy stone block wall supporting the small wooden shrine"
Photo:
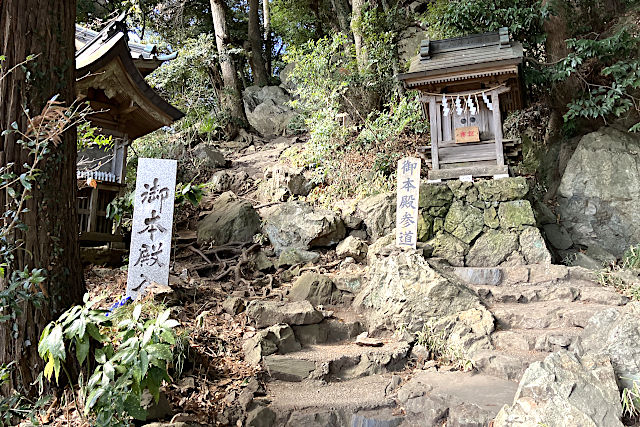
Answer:
<svg viewBox="0 0 640 427"><path fill-rule="evenodd" d="M451 265L551 263L523 177L420 186L418 239Z"/></svg>

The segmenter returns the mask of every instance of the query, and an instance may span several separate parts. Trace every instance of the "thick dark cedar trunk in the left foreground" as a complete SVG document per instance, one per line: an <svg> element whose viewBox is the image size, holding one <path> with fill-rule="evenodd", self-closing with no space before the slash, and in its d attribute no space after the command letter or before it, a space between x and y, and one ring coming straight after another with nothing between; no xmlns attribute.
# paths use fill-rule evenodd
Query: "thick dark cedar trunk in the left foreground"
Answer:
<svg viewBox="0 0 640 427"><path fill-rule="evenodd" d="M23 107L35 116L55 94L67 104L74 100L75 17L75 0L0 1L0 52L6 56L4 69L24 61L29 54L40 54L27 65L28 77L18 68L0 81L0 129L10 129L11 123L17 122L24 131L27 120ZM16 143L14 134L1 138L0 164L14 163L17 168L14 171L20 174L28 153ZM22 241L8 267L9 274L24 268L43 268L46 273L46 300L39 309L30 303L23 304L17 319L17 337L13 335L12 321L0 324L0 363L17 362L8 385L17 390L30 390L30 384L42 370L37 345L44 326L72 304L82 301L76 157L76 132L71 129L58 146L51 147L40 166L42 174L27 202L29 211L22 217L28 228L16 230L8 237L9 242ZM7 194L0 194L3 211L6 203Z"/></svg>

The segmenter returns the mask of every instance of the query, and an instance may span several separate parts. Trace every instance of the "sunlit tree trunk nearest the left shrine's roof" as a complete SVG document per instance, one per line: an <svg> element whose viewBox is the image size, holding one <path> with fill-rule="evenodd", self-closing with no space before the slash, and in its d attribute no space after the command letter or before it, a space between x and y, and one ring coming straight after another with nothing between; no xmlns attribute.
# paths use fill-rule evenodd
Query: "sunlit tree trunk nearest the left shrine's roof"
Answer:
<svg viewBox="0 0 640 427"><path fill-rule="evenodd" d="M247 116L244 113L242 94L238 85L238 74L233 60L227 48L229 44L229 34L227 32L227 13L224 0L211 0L211 15L213 16L213 29L216 33L216 46L222 81L224 82L222 107L226 110L237 125L244 126L247 123ZM237 134L238 126L232 126L230 133ZM233 135L235 136L235 135Z"/></svg>

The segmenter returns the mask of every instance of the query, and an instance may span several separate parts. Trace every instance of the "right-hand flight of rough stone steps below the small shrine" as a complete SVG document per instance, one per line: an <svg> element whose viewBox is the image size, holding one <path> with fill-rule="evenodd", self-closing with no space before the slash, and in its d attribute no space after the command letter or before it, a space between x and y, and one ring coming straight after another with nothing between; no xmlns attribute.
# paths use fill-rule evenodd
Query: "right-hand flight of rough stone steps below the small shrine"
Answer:
<svg viewBox="0 0 640 427"><path fill-rule="evenodd" d="M560 265L456 268L496 319L493 350L478 352L480 372L518 381L531 362L571 349L595 313L628 299L594 281L588 270Z"/></svg>

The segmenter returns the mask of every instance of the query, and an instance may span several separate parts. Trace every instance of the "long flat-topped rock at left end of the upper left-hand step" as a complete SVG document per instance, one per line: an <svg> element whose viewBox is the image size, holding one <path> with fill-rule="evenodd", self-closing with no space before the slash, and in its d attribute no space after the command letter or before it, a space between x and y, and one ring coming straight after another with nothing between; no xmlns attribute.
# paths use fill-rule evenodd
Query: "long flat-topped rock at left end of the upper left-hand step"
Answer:
<svg viewBox="0 0 640 427"><path fill-rule="evenodd" d="M255 321L258 328L278 323L310 325L320 323L324 319L322 313L313 308L309 301L285 303L254 300L247 306L247 316Z"/></svg>

